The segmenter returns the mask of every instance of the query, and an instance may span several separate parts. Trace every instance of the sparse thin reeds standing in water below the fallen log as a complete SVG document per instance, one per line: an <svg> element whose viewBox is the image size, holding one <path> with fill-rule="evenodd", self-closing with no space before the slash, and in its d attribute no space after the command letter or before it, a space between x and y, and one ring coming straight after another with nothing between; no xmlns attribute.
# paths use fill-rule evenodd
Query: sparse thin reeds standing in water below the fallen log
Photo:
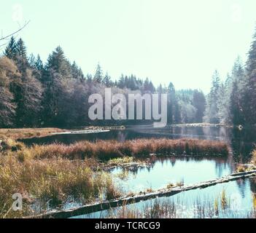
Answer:
<svg viewBox="0 0 256 233"><path fill-rule="evenodd" d="M256 218L255 205L248 211L234 209L235 205L223 190L215 200L198 198L190 208L185 208L185 200L152 200L142 208L110 210L105 218Z"/></svg>

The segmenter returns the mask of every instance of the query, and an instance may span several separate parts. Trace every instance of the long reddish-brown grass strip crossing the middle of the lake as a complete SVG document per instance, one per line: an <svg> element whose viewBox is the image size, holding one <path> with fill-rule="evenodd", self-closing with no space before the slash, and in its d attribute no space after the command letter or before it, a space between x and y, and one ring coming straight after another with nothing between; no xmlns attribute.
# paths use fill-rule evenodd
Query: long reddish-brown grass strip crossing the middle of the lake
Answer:
<svg viewBox="0 0 256 233"><path fill-rule="evenodd" d="M95 158L108 160L118 157L149 157L155 155L196 155L196 156L226 156L228 145L218 141L201 140L170 140L170 139L139 139L134 141L97 141L91 143L82 141L66 146L50 144L43 146L23 147L18 151L20 159L33 157L35 159L50 159L61 157L66 159Z"/></svg>

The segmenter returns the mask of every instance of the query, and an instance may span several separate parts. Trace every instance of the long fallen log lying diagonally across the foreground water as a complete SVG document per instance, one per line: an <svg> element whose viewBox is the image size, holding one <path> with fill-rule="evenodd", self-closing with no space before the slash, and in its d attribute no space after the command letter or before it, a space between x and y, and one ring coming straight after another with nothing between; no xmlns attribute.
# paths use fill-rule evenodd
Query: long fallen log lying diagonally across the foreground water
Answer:
<svg viewBox="0 0 256 233"><path fill-rule="evenodd" d="M203 183L197 183L190 186L173 187L171 189L160 189L147 194L138 194L133 197L123 197L113 201L97 202L90 205L84 205L79 208L73 208L70 210L53 211L50 213L44 213L38 216L30 216L28 218L71 218L73 216L81 216L88 213L95 213L102 210L109 210L110 208L117 208L123 205L131 205L136 202L155 199L158 197L171 197L175 194L179 194L182 191L190 191L193 189L205 189L209 186L215 186L218 183L228 183L230 181L236 181L238 179L251 178L256 175L256 170L251 170L243 173L233 173L223 178L217 178L212 181L206 181Z"/></svg>

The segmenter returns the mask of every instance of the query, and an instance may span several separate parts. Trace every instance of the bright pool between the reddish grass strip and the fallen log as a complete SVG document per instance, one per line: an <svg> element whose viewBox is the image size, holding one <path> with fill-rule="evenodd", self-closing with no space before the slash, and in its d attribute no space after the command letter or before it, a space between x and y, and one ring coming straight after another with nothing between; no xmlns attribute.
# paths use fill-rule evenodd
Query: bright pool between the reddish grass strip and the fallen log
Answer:
<svg viewBox="0 0 256 233"><path fill-rule="evenodd" d="M185 185L210 181L230 175L235 171L228 159L170 158L153 163L152 167L139 168L125 174L122 168L115 168L112 174L116 177L118 186L127 192L139 193L147 189L163 189L169 183L184 183Z"/></svg>

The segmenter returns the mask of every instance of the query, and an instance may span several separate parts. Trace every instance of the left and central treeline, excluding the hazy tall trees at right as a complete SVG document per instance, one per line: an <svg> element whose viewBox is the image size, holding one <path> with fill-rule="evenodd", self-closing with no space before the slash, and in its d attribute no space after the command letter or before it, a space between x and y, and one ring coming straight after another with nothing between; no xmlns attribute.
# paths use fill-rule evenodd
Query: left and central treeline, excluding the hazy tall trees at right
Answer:
<svg viewBox="0 0 256 233"><path fill-rule="evenodd" d="M94 121L88 118L88 97L113 93L167 93L168 124L202 122L205 97L199 90L176 91L155 88L149 79L121 75L113 81L98 65L95 74L83 74L57 47L43 63L40 56L27 55L22 39L12 37L0 58L0 127L71 127L85 125L141 124L126 121ZM144 121L145 123L146 121ZM150 122L148 122L150 123Z"/></svg>

